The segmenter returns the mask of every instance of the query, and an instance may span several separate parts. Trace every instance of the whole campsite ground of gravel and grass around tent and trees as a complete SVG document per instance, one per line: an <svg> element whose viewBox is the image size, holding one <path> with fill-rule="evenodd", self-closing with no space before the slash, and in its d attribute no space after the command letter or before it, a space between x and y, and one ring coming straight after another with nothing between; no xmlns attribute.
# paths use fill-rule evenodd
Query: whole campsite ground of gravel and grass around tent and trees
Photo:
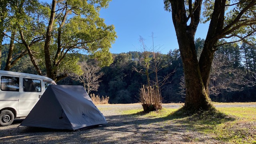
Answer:
<svg viewBox="0 0 256 144"><path fill-rule="evenodd" d="M102 104L108 124L87 130L51 130L20 126L22 120L0 127L0 143L13 144L224 144L256 142L256 103L214 103L227 115L177 117L183 104L163 104L161 112L143 114L140 104ZM230 115L231 114L231 115Z"/></svg>

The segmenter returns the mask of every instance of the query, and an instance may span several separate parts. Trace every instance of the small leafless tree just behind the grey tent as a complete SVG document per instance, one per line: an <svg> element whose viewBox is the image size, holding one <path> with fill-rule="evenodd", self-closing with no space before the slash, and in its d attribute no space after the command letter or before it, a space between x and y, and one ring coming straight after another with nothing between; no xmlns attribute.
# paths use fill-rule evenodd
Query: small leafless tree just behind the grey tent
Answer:
<svg viewBox="0 0 256 144"><path fill-rule="evenodd" d="M73 74L73 78L84 84L88 94L92 91L98 91L99 83L102 81L99 78L104 75L103 72L100 72L101 68L94 62L80 62L79 65L83 73L82 75Z"/></svg>

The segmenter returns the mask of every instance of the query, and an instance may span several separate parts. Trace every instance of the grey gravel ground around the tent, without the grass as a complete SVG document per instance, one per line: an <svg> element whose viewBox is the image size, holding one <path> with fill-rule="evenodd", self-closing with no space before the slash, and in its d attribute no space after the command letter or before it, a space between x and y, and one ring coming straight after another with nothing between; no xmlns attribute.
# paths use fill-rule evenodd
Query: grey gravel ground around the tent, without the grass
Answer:
<svg viewBox="0 0 256 144"><path fill-rule="evenodd" d="M163 104L165 108L180 108L183 104ZM217 104L216 107L227 105ZM250 105L230 104L230 107ZM20 126L22 119L0 127L0 144L220 144L211 136L186 130L184 126L164 118L140 118L122 115L122 110L142 109L140 104L97 105L108 124L78 130L52 130ZM196 139L196 142L192 140Z"/></svg>

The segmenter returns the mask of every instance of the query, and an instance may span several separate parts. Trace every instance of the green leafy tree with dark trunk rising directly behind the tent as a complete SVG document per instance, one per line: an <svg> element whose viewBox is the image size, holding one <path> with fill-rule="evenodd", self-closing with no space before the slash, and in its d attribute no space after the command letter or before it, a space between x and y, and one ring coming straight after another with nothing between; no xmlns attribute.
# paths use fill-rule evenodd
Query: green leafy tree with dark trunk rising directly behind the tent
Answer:
<svg viewBox="0 0 256 144"><path fill-rule="evenodd" d="M101 8L110 0L52 0L46 30L44 60L47 76L58 81L67 74L58 74L58 66L69 52L84 50L96 58L101 66L109 66L109 48L114 43L114 26L107 26L99 17Z"/></svg>

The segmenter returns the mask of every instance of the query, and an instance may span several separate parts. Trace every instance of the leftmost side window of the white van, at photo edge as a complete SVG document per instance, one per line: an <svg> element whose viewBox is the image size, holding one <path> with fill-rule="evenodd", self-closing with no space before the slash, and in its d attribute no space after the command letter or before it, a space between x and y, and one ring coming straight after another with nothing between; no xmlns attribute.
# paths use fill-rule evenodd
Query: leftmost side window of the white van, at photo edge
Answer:
<svg viewBox="0 0 256 144"><path fill-rule="evenodd" d="M1 76L1 90L18 92L20 89L20 80L18 77Z"/></svg>

